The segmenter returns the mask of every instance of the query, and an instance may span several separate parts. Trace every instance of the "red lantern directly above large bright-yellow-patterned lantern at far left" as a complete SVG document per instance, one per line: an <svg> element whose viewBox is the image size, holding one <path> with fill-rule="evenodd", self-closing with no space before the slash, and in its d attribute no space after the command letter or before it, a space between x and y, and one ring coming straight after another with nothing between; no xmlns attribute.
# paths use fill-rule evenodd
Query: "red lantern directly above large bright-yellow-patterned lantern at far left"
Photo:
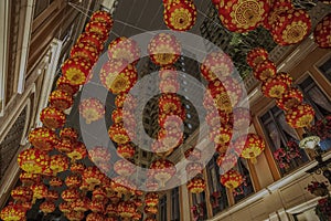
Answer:
<svg viewBox="0 0 331 221"><path fill-rule="evenodd" d="M58 143L55 131L45 127L34 128L29 134L29 141L35 148L44 151L53 150Z"/></svg>

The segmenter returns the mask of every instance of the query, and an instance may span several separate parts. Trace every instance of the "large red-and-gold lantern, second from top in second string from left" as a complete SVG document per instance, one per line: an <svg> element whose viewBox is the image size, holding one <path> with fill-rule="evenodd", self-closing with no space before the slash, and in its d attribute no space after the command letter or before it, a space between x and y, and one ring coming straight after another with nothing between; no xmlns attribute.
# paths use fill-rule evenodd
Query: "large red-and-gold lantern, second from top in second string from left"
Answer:
<svg viewBox="0 0 331 221"><path fill-rule="evenodd" d="M100 70L102 84L113 94L127 93L138 80L137 69L126 60L109 60Z"/></svg>

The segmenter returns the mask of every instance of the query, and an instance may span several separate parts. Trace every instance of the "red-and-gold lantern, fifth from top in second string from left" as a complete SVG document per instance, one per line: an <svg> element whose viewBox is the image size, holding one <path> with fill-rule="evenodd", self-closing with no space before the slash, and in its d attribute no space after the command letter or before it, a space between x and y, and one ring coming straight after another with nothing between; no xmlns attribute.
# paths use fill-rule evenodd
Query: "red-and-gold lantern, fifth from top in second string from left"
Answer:
<svg viewBox="0 0 331 221"><path fill-rule="evenodd" d="M125 145L135 137L134 128L125 128L124 123L114 124L108 129L110 139L119 145Z"/></svg>

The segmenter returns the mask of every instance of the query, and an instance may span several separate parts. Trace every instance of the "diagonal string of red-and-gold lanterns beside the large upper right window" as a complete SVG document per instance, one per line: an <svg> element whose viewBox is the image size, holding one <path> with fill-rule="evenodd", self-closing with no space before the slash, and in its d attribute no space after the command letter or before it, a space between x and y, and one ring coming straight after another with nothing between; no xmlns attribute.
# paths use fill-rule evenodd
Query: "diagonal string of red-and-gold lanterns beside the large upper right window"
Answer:
<svg viewBox="0 0 331 221"><path fill-rule="evenodd" d="M286 112L286 122L291 127L309 127L314 117L312 106L302 104L302 93L292 86L292 77L289 74L284 72L276 73L276 71L273 75L257 72L258 66L266 61L268 61L268 54L264 49L254 49L247 54L248 65L256 73L255 77L261 82L260 88L263 94L266 97L276 99L277 106ZM269 71L268 73L270 73Z"/></svg>

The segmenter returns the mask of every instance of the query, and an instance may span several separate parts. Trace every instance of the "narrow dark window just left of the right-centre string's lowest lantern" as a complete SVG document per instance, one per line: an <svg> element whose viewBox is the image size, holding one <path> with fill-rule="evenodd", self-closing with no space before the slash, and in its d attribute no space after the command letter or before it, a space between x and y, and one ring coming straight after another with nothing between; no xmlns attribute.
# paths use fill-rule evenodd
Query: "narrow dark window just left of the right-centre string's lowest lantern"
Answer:
<svg viewBox="0 0 331 221"><path fill-rule="evenodd" d="M213 215L223 211L228 207L226 189L220 182L220 170L216 165L217 156L214 156L213 159L207 165L207 179L210 188L210 202L213 208Z"/></svg>

